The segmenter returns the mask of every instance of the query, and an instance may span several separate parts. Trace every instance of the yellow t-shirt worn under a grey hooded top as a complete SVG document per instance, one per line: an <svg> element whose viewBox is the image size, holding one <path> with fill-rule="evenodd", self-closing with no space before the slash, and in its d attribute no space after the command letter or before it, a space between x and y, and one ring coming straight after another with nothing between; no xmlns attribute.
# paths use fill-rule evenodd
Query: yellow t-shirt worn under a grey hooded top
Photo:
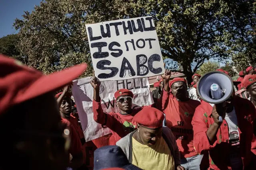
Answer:
<svg viewBox="0 0 256 170"><path fill-rule="evenodd" d="M163 137L148 147L132 137L132 164L143 170L174 170L174 158Z"/></svg>

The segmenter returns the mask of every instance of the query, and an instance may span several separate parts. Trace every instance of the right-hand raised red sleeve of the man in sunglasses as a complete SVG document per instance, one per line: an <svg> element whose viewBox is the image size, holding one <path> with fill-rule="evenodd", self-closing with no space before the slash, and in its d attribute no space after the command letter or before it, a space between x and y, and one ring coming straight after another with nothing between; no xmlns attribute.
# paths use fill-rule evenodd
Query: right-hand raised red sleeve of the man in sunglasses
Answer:
<svg viewBox="0 0 256 170"><path fill-rule="evenodd" d="M168 105L169 96L170 96L170 92L166 92L163 89L161 97L156 103L150 104L148 106L142 106L141 109L146 108L146 107L154 107L154 108L157 108L158 110L163 111Z"/></svg>

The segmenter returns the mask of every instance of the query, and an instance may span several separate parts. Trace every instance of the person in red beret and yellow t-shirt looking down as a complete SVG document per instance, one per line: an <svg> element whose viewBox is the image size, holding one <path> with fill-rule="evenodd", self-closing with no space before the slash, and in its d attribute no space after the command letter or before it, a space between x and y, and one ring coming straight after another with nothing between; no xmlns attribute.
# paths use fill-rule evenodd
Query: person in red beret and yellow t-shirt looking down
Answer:
<svg viewBox="0 0 256 170"><path fill-rule="evenodd" d="M142 109L134 121L137 130L116 143L131 164L143 170L185 170L180 166L176 138L168 127L163 127L164 114L160 110Z"/></svg>

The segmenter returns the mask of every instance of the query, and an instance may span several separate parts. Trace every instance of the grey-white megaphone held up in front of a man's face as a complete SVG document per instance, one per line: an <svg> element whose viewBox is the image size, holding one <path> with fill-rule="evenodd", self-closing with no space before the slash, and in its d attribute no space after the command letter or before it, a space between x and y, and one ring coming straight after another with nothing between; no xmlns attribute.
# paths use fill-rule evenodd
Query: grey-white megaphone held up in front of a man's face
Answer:
<svg viewBox="0 0 256 170"><path fill-rule="evenodd" d="M199 79L196 90L205 102L219 104L230 98L234 91L234 84L226 73L212 71ZM219 120L222 122L221 116Z"/></svg>

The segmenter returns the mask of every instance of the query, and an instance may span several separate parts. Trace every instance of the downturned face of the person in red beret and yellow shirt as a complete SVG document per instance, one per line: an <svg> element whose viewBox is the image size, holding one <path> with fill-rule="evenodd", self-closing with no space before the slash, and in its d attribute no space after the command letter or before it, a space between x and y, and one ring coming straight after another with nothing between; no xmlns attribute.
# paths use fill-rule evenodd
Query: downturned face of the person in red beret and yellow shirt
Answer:
<svg viewBox="0 0 256 170"><path fill-rule="evenodd" d="M139 130L139 136L144 145L152 147L156 144L156 141L162 137L162 128L156 130L148 129L138 124L137 129Z"/></svg>

